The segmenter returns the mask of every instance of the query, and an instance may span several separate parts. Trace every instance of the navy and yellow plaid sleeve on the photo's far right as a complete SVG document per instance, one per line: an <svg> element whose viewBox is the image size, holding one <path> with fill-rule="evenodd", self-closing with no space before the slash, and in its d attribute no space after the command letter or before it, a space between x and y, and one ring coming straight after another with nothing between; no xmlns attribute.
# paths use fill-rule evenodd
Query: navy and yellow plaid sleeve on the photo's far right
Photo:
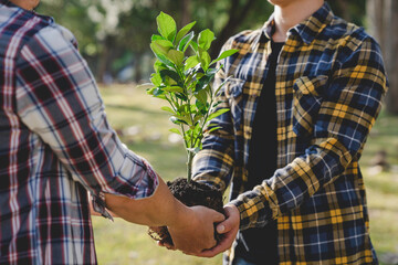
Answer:
<svg viewBox="0 0 398 265"><path fill-rule="evenodd" d="M263 226L298 208L360 156L380 110L387 77L373 39L365 39L355 51L342 51L313 123L313 145L271 179L231 202L240 211L241 230Z"/></svg>

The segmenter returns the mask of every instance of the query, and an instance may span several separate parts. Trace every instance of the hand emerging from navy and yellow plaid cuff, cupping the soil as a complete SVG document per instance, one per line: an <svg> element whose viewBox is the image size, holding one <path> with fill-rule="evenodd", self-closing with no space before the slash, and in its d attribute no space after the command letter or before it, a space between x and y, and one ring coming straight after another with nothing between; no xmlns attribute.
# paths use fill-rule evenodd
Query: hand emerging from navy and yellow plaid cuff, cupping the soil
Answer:
<svg viewBox="0 0 398 265"><path fill-rule="evenodd" d="M217 225L217 232L223 234L221 241L213 248L196 254L196 256L213 257L232 246L239 231L240 213L238 208L233 204L227 204L224 211L227 220Z"/></svg>

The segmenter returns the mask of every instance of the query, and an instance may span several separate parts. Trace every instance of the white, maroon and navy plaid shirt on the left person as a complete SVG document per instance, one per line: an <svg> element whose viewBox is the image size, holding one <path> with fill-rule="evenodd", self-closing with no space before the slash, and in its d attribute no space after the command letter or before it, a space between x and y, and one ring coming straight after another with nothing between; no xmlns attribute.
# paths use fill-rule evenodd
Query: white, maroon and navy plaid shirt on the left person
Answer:
<svg viewBox="0 0 398 265"><path fill-rule="evenodd" d="M100 192L138 199L157 187L108 126L75 43L1 0L0 264L96 264L87 191L103 204Z"/></svg>

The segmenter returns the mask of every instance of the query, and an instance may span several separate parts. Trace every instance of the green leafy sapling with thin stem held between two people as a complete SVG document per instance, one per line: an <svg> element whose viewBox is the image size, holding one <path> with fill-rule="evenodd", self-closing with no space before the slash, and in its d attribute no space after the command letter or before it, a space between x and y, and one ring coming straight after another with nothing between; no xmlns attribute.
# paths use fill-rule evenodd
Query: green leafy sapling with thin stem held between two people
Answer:
<svg viewBox="0 0 398 265"><path fill-rule="evenodd" d="M159 34L151 36L150 49L156 56L155 73L151 74L150 88L147 93L167 102L163 110L170 114L170 120L177 125L170 131L182 137L187 151L187 178L192 178L192 159L201 150L201 139L207 127L209 132L219 129L211 119L229 112L220 108L211 112L220 103L216 95L226 84L212 87L212 81L222 65L217 65L237 52L228 50L211 60L209 49L214 33L209 29L197 36L191 31L196 22L191 22L177 31L176 21L160 12L156 18Z"/></svg>

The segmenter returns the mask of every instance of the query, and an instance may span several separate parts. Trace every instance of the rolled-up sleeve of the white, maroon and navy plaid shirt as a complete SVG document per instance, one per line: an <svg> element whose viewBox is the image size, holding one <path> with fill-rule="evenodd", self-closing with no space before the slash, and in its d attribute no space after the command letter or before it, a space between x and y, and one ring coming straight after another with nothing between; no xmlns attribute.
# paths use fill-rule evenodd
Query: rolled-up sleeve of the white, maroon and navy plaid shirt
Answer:
<svg viewBox="0 0 398 265"><path fill-rule="evenodd" d="M94 77L67 34L48 26L22 47L15 73L22 123L95 201L101 192L150 197L156 172L109 127Z"/></svg>

